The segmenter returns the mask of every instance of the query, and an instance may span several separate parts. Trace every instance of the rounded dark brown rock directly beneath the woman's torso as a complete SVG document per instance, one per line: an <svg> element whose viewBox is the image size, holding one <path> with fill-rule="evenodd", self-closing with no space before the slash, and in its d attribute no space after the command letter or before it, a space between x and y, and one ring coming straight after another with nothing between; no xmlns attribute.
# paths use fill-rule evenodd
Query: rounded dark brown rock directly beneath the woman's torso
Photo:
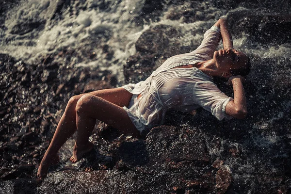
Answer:
<svg viewBox="0 0 291 194"><path fill-rule="evenodd" d="M179 136L183 139L179 139ZM197 166L205 166L210 161L206 144L197 131L185 129L179 134L177 128L164 126L152 129L146 138L151 145L147 151L153 161L188 161Z"/></svg>

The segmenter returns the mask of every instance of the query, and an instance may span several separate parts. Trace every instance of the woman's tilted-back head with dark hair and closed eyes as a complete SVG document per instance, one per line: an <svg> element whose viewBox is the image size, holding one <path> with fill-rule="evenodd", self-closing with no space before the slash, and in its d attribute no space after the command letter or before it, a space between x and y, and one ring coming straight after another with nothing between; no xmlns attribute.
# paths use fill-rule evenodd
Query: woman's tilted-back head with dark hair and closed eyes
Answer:
<svg viewBox="0 0 291 194"><path fill-rule="evenodd" d="M239 69L247 63L247 57L243 52L235 49L221 49L213 54L218 69L222 71L230 71L231 69Z"/></svg>

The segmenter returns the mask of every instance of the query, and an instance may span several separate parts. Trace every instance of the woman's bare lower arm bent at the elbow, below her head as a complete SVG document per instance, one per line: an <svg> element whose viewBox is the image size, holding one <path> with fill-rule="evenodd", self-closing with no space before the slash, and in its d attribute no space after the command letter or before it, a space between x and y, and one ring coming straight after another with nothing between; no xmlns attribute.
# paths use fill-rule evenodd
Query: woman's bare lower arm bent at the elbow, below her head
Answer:
<svg viewBox="0 0 291 194"><path fill-rule="evenodd" d="M233 86L234 100L229 101L226 104L226 114L234 118L245 118L247 114L246 100L243 90L242 81L244 78L242 76L231 76L229 82L231 81Z"/></svg>

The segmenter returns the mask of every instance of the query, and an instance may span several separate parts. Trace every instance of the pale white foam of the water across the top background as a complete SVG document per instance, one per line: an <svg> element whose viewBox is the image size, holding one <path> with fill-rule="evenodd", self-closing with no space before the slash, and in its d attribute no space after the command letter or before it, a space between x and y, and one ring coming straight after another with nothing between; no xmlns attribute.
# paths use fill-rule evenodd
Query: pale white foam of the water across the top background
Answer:
<svg viewBox="0 0 291 194"><path fill-rule="evenodd" d="M100 45L93 44L86 50L96 52L96 61L92 62L86 57L80 59L77 56L73 56L73 59L79 66L114 69L118 79L123 81L123 65L126 63L126 59L136 52L135 42L137 39L150 27L159 24L172 26L181 30L182 35L179 38L184 46L193 43L199 45L203 39L203 32L209 29L218 17L225 14L217 8L210 7L209 9L215 19L181 23L182 21L173 21L166 18L168 12L173 9L171 8L164 10L160 21L144 21L142 26L134 20L135 17L139 17L145 0L122 0L119 2L108 0L106 2L110 3L110 8L103 10L97 6L100 4L99 1L86 0L81 3L77 0L63 10L62 19L52 19L57 9L57 0L19 1L19 5L6 14L5 27L7 30L0 29L0 50L2 53L9 53L16 59L32 63L37 57L46 56L64 48L73 49L79 55L82 55L82 48L88 47L86 45L88 42L85 41L87 38L97 40L106 35L108 38L103 40L103 44L107 44L113 50L113 59L110 61L105 59ZM86 11L83 11L83 8ZM237 8L233 11L245 12L248 10ZM23 35L11 33L16 24L36 18L47 21L44 29L33 29ZM290 48L278 46L265 49L260 46L254 47L246 40L246 36L234 40L235 48L260 57L291 56ZM113 61L115 63L111 64Z"/></svg>

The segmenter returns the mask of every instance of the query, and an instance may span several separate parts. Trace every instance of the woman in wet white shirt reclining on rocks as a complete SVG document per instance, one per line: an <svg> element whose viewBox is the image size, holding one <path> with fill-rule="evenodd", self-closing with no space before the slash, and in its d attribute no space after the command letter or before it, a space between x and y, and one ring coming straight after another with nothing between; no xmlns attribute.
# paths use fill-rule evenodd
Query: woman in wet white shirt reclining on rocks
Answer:
<svg viewBox="0 0 291 194"><path fill-rule="evenodd" d="M215 51L221 38L224 49ZM233 49L226 20L219 19L205 32L196 50L169 58L146 81L71 97L40 163L38 178L44 179L49 166L59 161L58 150L76 129L70 161L79 161L93 148L88 139L96 119L140 137L145 129L162 124L167 109L191 112L202 106L218 120L244 118L247 109L242 76L249 69L246 55ZM228 79L234 99L222 93L212 77Z"/></svg>

